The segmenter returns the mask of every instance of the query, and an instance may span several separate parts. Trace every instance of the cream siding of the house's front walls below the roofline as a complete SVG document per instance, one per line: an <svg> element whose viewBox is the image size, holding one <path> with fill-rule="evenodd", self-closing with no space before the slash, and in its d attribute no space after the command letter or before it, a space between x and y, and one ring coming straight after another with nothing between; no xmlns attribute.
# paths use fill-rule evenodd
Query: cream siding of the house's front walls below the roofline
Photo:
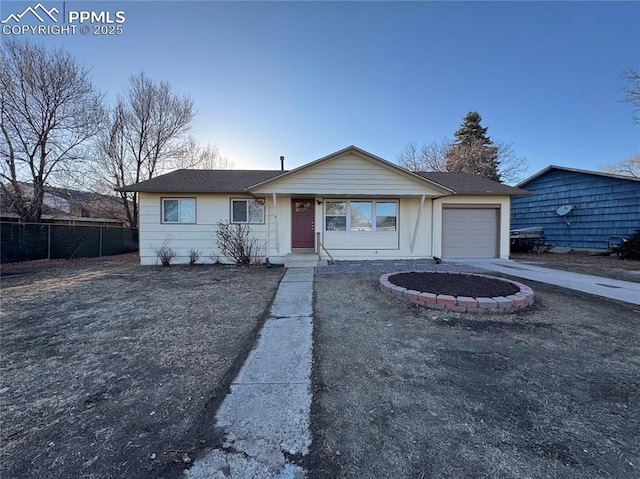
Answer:
<svg viewBox="0 0 640 479"><path fill-rule="evenodd" d="M308 195L313 197L314 195ZM351 196L351 195L349 195ZM390 195L391 196L391 195ZM229 219L229 200L239 195L196 195L197 224L171 224L160 222L160 199L162 197L194 197L194 195L140 195L140 256L142 264L156 264L155 250L165 241L178 253L176 263L187 263L189 250L202 252L202 261L211 262L210 256L219 256L214 232L217 221ZM324 201L323 196L316 196ZM368 199L378 199L371 195ZM396 196L398 198L398 196ZM291 195L277 195L277 208L273 208L272 195L266 195L266 218L264 225L251 225L251 229L264 241L266 253L272 262L282 262L291 251ZM416 227L420 205L419 197L399 197L398 235L362 235L345 233L339 238L330 238L324 231L323 207L316 205L316 232L321 233L324 244L336 259L393 259L426 258L442 256L442 210L451 205L492 205L500 207L499 254L509 255L509 198L505 196L448 196L440 199L426 198L418 225L413 250L411 241ZM277 234L276 240L276 215ZM268 237L267 237L268 236ZM395 242L394 244L391 244ZM279 249L276 248L279 244ZM323 257L326 255L322 253ZM224 258L221 258L224 259Z"/></svg>

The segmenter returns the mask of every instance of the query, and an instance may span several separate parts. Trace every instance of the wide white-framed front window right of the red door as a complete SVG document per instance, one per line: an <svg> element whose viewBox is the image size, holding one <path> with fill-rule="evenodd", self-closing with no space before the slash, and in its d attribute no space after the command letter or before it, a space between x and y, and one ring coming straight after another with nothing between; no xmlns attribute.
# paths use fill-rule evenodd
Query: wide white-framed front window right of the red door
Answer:
<svg viewBox="0 0 640 479"><path fill-rule="evenodd" d="M397 201L326 201L325 230L397 231Z"/></svg>

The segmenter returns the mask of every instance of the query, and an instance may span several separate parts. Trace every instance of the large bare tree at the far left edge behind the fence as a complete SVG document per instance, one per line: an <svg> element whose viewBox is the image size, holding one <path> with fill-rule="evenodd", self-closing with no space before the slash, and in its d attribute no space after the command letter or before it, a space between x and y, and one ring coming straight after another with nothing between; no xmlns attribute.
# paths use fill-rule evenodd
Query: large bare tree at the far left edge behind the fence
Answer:
<svg viewBox="0 0 640 479"><path fill-rule="evenodd" d="M102 95L63 50L5 40L0 61L1 189L22 221L40 222L45 185L75 170L101 127Z"/></svg>

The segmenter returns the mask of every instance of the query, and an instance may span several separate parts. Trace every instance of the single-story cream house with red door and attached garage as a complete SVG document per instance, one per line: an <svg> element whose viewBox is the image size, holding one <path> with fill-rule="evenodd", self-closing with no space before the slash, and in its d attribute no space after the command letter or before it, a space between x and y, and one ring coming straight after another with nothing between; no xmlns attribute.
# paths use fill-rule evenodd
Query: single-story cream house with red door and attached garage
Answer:
<svg viewBox="0 0 640 479"><path fill-rule="evenodd" d="M246 224L273 264L322 259L507 258L512 195L466 173L414 173L355 146L291 171L177 170L127 186L140 201L140 261L162 246L228 261L218 222Z"/></svg>

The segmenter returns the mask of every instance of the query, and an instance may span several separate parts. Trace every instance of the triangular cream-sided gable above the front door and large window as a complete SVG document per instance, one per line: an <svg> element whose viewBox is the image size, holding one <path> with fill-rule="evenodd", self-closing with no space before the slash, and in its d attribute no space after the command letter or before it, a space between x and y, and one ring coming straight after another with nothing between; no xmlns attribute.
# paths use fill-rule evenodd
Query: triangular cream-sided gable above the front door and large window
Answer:
<svg viewBox="0 0 640 479"><path fill-rule="evenodd" d="M442 190L432 187L425 181L353 154L328 160L292 176L276 180L254 192L378 197L443 194Z"/></svg>

